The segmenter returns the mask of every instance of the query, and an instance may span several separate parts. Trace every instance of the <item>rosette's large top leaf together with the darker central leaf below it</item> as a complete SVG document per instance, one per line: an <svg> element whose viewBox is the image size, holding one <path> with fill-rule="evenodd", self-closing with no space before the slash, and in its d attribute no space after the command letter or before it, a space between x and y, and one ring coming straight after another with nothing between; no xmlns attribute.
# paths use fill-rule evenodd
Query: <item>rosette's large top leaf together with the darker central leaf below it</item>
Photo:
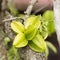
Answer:
<svg viewBox="0 0 60 60"><path fill-rule="evenodd" d="M25 35L27 37L28 40L32 40L36 33L37 33L37 30L38 28L40 27L41 25L41 22L40 22L40 16L30 16L24 23L25 25Z"/></svg>

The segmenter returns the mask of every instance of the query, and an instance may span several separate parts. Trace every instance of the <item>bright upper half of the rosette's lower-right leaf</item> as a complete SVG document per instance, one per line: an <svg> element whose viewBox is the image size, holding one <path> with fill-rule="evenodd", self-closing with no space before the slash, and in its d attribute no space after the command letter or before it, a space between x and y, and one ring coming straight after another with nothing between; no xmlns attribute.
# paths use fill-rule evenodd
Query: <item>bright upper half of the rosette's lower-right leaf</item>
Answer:
<svg viewBox="0 0 60 60"><path fill-rule="evenodd" d="M41 49L46 49L46 43L40 34L37 34L36 38L34 38L32 41Z"/></svg>

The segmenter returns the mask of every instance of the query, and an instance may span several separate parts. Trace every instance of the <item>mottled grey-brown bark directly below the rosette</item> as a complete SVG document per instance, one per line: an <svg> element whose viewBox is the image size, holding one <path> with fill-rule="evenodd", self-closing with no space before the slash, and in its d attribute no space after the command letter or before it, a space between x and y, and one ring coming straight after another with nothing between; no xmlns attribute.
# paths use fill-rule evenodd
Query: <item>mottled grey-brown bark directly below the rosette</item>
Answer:
<svg viewBox="0 0 60 60"><path fill-rule="evenodd" d="M28 46L19 49L21 60L47 60L45 53L32 51Z"/></svg>

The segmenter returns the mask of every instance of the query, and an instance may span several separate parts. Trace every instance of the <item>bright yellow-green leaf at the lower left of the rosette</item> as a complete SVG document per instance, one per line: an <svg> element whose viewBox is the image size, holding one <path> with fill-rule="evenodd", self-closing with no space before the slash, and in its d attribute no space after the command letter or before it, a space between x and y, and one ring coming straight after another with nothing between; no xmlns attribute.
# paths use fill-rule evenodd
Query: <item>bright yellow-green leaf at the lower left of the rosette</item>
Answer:
<svg viewBox="0 0 60 60"><path fill-rule="evenodd" d="M23 33L18 34L14 41L13 41L13 46L17 48L24 47L28 44L28 41L25 38L25 35Z"/></svg>

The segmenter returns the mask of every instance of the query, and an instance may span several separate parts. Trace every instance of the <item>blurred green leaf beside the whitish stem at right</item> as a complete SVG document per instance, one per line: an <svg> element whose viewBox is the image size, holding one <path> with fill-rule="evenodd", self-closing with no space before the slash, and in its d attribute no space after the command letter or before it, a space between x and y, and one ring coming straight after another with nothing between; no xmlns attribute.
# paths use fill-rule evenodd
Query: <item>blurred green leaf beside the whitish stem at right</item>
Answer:
<svg viewBox="0 0 60 60"><path fill-rule="evenodd" d="M54 13L52 10L47 10L43 13L43 19L45 22L48 22L47 29L49 35L55 32L55 26L54 26Z"/></svg>

